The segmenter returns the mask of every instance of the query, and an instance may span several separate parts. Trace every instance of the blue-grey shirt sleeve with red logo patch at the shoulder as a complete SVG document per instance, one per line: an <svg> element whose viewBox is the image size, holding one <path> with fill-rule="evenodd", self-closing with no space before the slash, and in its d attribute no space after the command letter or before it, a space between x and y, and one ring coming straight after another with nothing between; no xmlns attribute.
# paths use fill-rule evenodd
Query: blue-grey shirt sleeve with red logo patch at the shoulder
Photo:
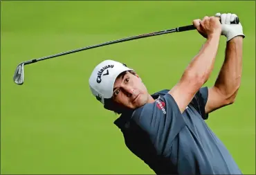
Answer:
<svg viewBox="0 0 256 175"><path fill-rule="evenodd" d="M165 150L166 144L185 127L185 121L174 98L166 93L154 103L145 104L134 111L131 120L149 136L159 154Z"/></svg>

